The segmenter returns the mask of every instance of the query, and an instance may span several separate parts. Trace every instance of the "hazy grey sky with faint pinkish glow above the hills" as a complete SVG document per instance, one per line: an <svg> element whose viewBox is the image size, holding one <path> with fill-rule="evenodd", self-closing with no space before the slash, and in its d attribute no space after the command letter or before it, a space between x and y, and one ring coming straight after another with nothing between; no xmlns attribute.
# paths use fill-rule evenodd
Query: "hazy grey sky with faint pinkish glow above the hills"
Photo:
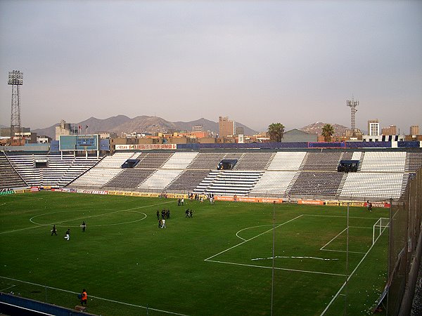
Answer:
<svg viewBox="0 0 422 316"><path fill-rule="evenodd" d="M228 116L264 131L315 121L422 128L422 1L0 0L0 124L8 72L21 119Z"/></svg>

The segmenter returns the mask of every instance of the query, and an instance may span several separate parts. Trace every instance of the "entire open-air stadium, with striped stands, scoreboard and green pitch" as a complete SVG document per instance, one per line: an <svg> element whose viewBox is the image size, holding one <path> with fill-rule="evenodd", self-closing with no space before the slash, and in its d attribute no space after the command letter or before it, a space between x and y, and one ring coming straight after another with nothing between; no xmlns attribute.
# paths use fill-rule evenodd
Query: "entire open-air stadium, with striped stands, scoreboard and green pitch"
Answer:
<svg viewBox="0 0 422 316"><path fill-rule="evenodd" d="M57 147L0 152L6 314L409 314L420 142Z"/></svg>

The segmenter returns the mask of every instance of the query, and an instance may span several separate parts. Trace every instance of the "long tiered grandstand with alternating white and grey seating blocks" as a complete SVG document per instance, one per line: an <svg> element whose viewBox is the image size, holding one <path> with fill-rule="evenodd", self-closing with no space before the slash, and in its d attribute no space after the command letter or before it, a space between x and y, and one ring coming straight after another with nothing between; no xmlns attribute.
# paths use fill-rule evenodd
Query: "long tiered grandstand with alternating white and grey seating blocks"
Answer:
<svg viewBox="0 0 422 316"><path fill-rule="evenodd" d="M136 162L124 168L125 162ZM341 161L357 172L338 172ZM162 150L74 154L1 154L2 187L174 192L248 197L398 199L422 166L419 150ZM7 178L7 181L6 181Z"/></svg>

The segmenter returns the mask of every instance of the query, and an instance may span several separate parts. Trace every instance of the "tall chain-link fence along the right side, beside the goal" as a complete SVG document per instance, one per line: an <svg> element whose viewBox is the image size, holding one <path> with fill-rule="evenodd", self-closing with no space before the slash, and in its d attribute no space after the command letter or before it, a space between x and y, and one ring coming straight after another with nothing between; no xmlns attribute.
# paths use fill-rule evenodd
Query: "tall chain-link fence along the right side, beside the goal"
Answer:
<svg viewBox="0 0 422 316"><path fill-rule="evenodd" d="M411 307L411 289L416 284L421 260L421 218L422 169L419 169L409 177L404 195L398 202L392 202L390 208L387 315L407 315L404 310Z"/></svg>

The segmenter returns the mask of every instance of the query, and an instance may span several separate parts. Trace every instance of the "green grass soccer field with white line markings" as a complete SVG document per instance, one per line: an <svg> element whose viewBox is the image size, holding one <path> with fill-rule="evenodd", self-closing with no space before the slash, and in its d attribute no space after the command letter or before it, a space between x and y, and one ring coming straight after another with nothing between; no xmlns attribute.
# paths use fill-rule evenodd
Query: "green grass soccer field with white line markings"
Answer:
<svg viewBox="0 0 422 316"><path fill-rule="evenodd" d="M349 214L347 230L344 206L0 196L0 291L75 308L87 289L98 315L271 315L271 302L273 315L368 315L388 265L388 230L373 244L373 224L388 209Z"/></svg>

